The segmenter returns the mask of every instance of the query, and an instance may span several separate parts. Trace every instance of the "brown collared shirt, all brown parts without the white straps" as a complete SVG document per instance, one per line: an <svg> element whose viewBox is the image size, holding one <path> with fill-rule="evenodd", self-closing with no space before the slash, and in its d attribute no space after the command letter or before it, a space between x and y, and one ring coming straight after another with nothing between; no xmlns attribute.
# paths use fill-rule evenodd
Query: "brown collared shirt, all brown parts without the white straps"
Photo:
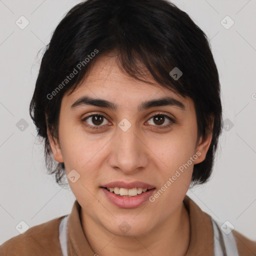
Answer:
<svg viewBox="0 0 256 256"><path fill-rule="evenodd" d="M189 213L190 241L185 256L213 256L213 228L211 217L203 212L187 195L184 204ZM75 200L67 222L68 256L93 256L80 222L80 205ZM62 256L59 242L59 223L64 216L30 227L0 245L0 256ZM256 241L233 230L240 256L255 256ZM100 254L99 254L100 256Z"/></svg>

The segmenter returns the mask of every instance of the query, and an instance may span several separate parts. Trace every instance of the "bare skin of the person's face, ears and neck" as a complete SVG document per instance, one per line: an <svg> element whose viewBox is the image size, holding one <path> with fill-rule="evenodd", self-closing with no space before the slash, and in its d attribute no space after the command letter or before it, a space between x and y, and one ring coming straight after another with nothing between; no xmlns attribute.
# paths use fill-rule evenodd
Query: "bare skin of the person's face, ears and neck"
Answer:
<svg viewBox="0 0 256 256"><path fill-rule="evenodd" d="M80 178L70 188L81 205L81 224L92 250L105 255L185 255L189 244L189 216L183 198L191 181L193 164L204 160L212 134L196 144L197 124L193 100L163 88L138 81L120 71L115 57L100 57L88 76L70 95L62 99L59 116L59 140L50 135L54 159L64 162L66 174L75 169ZM97 106L70 106L81 96L107 99L117 104L116 111ZM184 103L186 110L166 105L138 111L145 100L172 96ZM166 114L164 123L155 123L151 115ZM103 114L99 129L90 114ZM127 131L118 127L126 118ZM150 118L150 119L149 119ZM110 124L110 125L107 125ZM170 127L167 127L170 124ZM159 128L159 126L165 128ZM156 191L174 175L189 157L200 156L155 199L136 208L112 204L99 186L110 181L143 181ZM123 234L118 226L126 221L130 230Z"/></svg>

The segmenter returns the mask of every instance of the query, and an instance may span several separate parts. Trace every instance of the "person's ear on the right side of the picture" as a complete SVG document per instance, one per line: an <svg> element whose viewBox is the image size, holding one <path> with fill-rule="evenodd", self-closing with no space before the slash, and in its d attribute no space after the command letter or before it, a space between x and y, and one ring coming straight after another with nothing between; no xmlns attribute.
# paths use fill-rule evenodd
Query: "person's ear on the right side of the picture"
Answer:
<svg viewBox="0 0 256 256"><path fill-rule="evenodd" d="M209 129L207 130L206 134L204 137L200 137L199 142L196 146L195 152L200 152L198 153L198 157L194 160L194 164L202 162L205 159L206 153L208 151L208 148L210 146L210 142L212 139L212 129L213 129L213 123L214 123L214 117L210 117L210 125Z"/></svg>

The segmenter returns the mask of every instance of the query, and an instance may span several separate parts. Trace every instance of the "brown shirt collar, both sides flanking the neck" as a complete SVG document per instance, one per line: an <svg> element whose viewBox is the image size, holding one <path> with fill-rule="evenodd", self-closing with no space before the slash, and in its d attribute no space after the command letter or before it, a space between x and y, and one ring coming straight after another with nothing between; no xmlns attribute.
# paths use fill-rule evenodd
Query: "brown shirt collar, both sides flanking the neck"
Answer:
<svg viewBox="0 0 256 256"><path fill-rule="evenodd" d="M183 203L189 214L190 240L185 256L213 255L213 229L211 217L187 195ZM80 209L75 200L68 218L67 250L69 256L94 255L80 221ZM100 256L100 255L99 255Z"/></svg>

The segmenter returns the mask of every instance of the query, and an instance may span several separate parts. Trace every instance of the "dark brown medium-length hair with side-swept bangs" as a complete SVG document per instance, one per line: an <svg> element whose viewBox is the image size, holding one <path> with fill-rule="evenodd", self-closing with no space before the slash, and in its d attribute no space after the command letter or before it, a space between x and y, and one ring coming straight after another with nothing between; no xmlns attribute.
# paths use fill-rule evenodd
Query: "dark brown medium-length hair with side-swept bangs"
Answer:
<svg viewBox="0 0 256 256"><path fill-rule="evenodd" d="M29 109L45 143L48 173L55 174L61 184L64 164L52 157L47 125L58 138L64 93L79 84L96 59L113 50L118 53L120 69L128 75L146 81L142 63L156 82L194 101L197 139L204 137L210 115L214 116L206 158L194 165L192 174L193 184L205 182L222 129L218 71L204 32L166 0L87 0L71 8L59 22L46 45ZM169 74L174 67L182 71L177 80ZM63 83L74 69L77 74Z"/></svg>

